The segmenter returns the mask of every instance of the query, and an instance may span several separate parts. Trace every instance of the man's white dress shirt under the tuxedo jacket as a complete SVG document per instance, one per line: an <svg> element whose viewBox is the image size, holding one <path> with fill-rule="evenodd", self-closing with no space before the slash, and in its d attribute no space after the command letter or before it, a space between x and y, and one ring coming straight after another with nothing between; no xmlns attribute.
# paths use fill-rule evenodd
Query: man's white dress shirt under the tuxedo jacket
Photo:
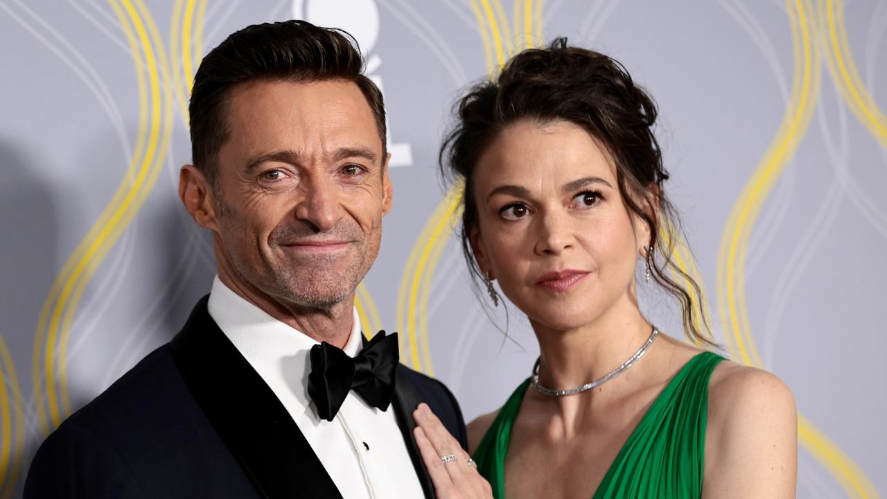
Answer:
<svg viewBox="0 0 887 499"><path fill-rule="evenodd" d="M345 499L424 497L394 409L382 411L349 392L329 422L308 395L309 352L314 339L293 329L224 285L216 276L209 315L277 395ZM344 351L362 348L360 321Z"/></svg>

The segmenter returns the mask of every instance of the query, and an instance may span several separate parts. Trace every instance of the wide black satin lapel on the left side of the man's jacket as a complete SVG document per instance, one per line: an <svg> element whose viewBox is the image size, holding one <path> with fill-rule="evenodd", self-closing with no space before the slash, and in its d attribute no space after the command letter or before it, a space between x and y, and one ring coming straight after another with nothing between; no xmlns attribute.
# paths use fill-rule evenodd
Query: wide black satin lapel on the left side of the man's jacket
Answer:
<svg viewBox="0 0 887 499"><path fill-rule="evenodd" d="M287 409L207 311L194 307L172 352L194 399L267 499L340 497Z"/></svg>

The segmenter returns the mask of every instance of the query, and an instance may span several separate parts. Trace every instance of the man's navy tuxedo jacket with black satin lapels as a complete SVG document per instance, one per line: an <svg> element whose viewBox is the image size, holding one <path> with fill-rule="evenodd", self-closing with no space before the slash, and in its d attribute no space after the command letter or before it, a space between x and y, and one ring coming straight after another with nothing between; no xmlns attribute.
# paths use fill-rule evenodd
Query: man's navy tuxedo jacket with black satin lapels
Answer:
<svg viewBox="0 0 887 499"><path fill-rule="evenodd" d="M341 497L271 388L212 320L207 301L169 344L52 432L28 471L26 499ZM397 368L389 410L431 498L412 439L420 401L463 448L465 423L443 384Z"/></svg>

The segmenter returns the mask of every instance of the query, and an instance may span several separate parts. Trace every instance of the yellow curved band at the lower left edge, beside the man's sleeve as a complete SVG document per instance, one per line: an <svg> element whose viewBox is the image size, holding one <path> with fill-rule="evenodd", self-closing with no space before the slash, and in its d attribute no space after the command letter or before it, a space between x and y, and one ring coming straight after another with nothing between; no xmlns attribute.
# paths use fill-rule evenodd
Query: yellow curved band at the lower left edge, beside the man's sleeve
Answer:
<svg viewBox="0 0 887 499"><path fill-rule="evenodd" d="M21 453L25 443L25 415L22 409L19 376L12 362L12 355L0 335L0 491L3 499L12 497L16 479L21 469ZM8 377L8 379L7 379ZM12 408L6 384L12 387ZM12 413L15 413L15 446L12 446ZM12 457L11 457L12 456ZM12 470L9 470L12 461ZM7 474L7 471L9 473ZM7 481L7 476L9 480Z"/></svg>

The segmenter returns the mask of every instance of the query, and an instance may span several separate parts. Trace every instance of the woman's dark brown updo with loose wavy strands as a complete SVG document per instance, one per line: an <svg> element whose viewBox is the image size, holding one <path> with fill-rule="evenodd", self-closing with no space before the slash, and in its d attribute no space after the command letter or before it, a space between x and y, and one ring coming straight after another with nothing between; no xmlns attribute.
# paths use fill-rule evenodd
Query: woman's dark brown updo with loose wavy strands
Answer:
<svg viewBox="0 0 887 499"><path fill-rule="evenodd" d="M650 228L653 279L679 301L687 337L713 345L703 332L708 324L702 304L691 294L702 299L699 286L671 259L680 226L662 189L669 175L653 133L656 106L622 64L557 38L548 48L515 55L495 81L476 84L459 99L455 114L458 121L443 141L439 159L444 178L465 182L462 250L475 277L483 275L468 238L478 225L473 172L481 154L516 122L567 121L588 131L613 157L619 194ZM695 313L702 324L694 320Z"/></svg>

